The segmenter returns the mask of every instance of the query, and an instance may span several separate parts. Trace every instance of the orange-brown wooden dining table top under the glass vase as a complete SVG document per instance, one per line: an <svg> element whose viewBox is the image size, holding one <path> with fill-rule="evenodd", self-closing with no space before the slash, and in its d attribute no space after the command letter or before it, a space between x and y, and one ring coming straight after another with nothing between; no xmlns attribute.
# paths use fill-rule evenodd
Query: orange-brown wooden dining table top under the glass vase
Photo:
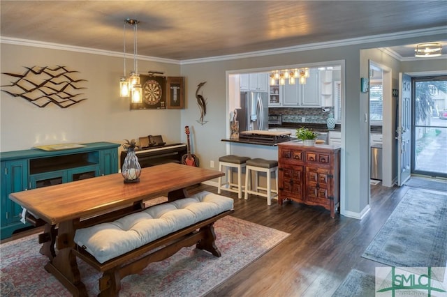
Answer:
<svg viewBox="0 0 447 297"><path fill-rule="evenodd" d="M57 224L154 199L223 175L217 170L167 163L142 168L138 183L124 183L122 174L117 173L13 192L9 198L35 218Z"/></svg>

